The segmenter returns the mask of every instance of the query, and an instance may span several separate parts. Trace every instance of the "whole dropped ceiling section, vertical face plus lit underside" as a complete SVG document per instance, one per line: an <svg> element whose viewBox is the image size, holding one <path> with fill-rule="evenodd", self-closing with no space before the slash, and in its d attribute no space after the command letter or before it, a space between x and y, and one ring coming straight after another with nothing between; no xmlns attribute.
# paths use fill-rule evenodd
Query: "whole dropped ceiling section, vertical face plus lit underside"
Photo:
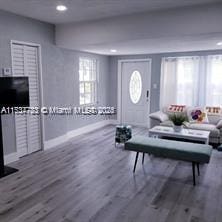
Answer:
<svg viewBox="0 0 222 222"><path fill-rule="evenodd" d="M104 55L222 49L221 12L222 4L212 4L61 24L56 44Z"/></svg>

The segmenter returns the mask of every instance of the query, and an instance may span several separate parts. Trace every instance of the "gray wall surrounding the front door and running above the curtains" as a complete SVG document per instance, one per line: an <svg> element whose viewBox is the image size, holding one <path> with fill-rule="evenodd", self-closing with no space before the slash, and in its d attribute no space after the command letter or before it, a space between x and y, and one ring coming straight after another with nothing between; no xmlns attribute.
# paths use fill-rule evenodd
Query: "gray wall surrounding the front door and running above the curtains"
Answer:
<svg viewBox="0 0 222 222"><path fill-rule="evenodd" d="M117 73L118 73L118 60L120 59L139 59L151 58L151 107L150 111L155 112L159 110L159 97L160 97L160 74L161 74L161 59L162 57L175 57L175 56L204 56L204 55L222 54L222 50L213 51L199 51L199 52L179 52L179 53L163 53L163 54L146 54L146 55L131 55L131 56L113 56L110 57L109 63L109 102L111 106L117 107ZM153 84L157 84L157 89L153 88ZM116 118L116 116L114 117Z"/></svg>

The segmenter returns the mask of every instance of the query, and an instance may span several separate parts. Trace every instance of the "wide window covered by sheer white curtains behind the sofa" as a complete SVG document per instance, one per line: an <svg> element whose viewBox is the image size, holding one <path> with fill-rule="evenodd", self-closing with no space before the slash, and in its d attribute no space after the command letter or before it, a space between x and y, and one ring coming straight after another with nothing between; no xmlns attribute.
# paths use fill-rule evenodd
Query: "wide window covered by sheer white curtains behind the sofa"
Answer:
<svg viewBox="0 0 222 222"><path fill-rule="evenodd" d="M160 107L222 105L222 55L163 58Z"/></svg>

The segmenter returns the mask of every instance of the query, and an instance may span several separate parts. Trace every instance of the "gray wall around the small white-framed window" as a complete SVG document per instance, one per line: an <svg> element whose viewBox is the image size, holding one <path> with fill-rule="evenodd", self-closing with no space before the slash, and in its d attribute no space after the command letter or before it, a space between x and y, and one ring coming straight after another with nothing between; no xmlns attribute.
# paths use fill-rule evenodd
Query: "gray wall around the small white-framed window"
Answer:
<svg viewBox="0 0 222 222"><path fill-rule="evenodd" d="M97 59L99 63L98 102L99 106L108 105L109 58L86 54L55 46L47 46L43 60L47 61L43 76L44 104L46 106L79 106L79 57ZM45 116L46 140L61 136L68 131L103 120L103 116Z"/></svg>

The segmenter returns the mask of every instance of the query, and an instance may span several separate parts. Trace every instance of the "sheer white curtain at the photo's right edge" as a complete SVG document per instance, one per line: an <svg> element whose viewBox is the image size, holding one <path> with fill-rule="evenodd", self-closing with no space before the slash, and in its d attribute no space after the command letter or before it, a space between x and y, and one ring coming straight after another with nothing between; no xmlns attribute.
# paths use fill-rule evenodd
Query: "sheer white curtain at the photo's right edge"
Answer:
<svg viewBox="0 0 222 222"><path fill-rule="evenodd" d="M222 105L222 55L206 58L206 105Z"/></svg>

